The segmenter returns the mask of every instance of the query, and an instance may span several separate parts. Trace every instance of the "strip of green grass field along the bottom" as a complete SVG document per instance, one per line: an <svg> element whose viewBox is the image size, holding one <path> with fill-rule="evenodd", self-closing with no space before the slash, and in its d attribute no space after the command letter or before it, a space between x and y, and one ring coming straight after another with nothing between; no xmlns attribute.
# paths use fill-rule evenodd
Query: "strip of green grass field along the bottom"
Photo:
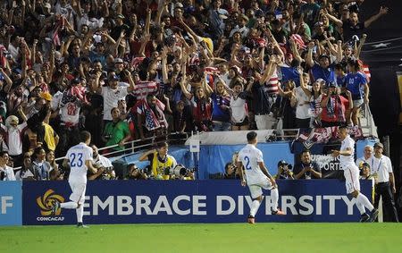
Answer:
<svg viewBox="0 0 402 253"><path fill-rule="evenodd" d="M0 227L0 252L402 252L398 223Z"/></svg>

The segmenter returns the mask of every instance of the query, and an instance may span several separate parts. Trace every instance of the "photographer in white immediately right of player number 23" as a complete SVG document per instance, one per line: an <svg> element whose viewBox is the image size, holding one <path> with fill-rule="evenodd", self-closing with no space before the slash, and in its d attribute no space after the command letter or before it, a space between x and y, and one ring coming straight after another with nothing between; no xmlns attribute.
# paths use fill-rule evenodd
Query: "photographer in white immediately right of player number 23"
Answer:
<svg viewBox="0 0 402 253"><path fill-rule="evenodd" d="M116 174L113 171L112 162L105 156L99 155L98 149L95 145L90 146L93 150L92 156L94 165L98 168L94 174L88 174L88 180L113 180Z"/></svg>

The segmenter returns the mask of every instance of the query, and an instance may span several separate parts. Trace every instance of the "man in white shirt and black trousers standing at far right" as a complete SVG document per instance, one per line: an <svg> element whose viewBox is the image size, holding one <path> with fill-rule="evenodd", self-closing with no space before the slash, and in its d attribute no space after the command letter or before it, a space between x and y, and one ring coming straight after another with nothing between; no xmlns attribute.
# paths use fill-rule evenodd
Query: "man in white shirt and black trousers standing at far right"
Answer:
<svg viewBox="0 0 402 253"><path fill-rule="evenodd" d="M392 172L392 164L389 157L382 155L383 149L384 146L381 142L375 143L374 156L370 161L371 173L374 179L376 179L374 207L378 207L381 196L384 213L388 214L389 221L398 223L398 213L393 197L393 194L397 191L395 189L394 173Z"/></svg>

